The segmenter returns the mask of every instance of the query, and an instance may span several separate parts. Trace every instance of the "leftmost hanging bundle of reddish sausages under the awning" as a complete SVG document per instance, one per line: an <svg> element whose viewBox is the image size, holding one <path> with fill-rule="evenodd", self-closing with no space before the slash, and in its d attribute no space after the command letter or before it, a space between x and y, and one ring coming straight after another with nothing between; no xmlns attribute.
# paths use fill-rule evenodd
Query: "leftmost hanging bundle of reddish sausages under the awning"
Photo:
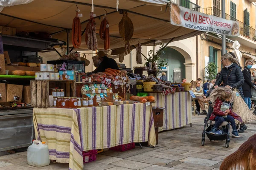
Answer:
<svg viewBox="0 0 256 170"><path fill-rule="evenodd" d="M81 45L81 23L78 17L78 12L76 12L76 17L73 19L72 25L72 43L74 48L79 48Z"/></svg>

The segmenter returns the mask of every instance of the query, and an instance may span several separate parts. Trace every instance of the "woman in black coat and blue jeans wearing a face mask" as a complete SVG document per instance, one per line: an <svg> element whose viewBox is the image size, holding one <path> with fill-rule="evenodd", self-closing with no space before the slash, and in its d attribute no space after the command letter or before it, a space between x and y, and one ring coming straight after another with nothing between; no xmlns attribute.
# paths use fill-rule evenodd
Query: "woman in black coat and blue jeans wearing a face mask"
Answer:
<svg viewBox="0 0 256 170"><path fill-rule="evenodd" d="M246 105L248 105L249 109L251 108L252 102L251 102L251 97L252 97L252 90L253 88L253 83L251 82L251 72L250 68L252 68L253 61L250 59L247 59L245 62L245 66L243 69L243 75L244 75L244 84L242 85L243 88L243 94L244 94L244 102Z"/></svg>

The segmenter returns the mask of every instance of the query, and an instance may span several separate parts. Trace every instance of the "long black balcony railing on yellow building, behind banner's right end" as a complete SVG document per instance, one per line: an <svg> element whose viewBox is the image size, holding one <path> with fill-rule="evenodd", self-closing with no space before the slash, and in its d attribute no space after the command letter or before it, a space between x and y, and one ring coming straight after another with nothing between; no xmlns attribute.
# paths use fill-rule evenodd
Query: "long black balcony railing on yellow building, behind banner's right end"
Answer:
<svg viewBox="0 0 256 170"><path fill-rule="evenodd" d="M203 12L208 15L221 17L221 10L216 7L203 8ZM245 23L242 23L239 20L236 20L236 18L230 16L227 13L226 13L226 20L238 21L239 28L240 28L240 34L245 37L250 38L251 40L256 41L256 30L254 28L247 26Z"/></svg>

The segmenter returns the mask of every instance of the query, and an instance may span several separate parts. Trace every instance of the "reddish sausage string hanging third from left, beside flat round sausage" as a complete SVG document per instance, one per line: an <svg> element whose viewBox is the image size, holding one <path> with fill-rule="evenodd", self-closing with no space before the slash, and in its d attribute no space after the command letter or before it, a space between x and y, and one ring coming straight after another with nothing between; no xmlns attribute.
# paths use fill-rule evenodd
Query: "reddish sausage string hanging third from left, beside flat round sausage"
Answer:
<svg viewBox="0 0 256 170"><path fill-rule="evenodd" d="M105 17L99 28L99 36L104 41L104 49L107 50L110 48L110 36L109 36L109 23L107 18Z"/></svg>

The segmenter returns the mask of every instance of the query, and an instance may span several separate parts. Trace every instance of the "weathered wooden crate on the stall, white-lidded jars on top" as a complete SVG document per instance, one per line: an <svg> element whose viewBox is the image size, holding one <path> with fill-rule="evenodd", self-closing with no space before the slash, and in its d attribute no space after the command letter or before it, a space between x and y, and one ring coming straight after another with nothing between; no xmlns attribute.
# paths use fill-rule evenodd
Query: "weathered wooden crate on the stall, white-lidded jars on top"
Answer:
<svg viewBox="0 0 256 170"><path fill-rule="evenodd" d="M74 80L31 80L31 106L34 108L49 108L50 88L64 89L66 97L76 96Z"/></svg>

